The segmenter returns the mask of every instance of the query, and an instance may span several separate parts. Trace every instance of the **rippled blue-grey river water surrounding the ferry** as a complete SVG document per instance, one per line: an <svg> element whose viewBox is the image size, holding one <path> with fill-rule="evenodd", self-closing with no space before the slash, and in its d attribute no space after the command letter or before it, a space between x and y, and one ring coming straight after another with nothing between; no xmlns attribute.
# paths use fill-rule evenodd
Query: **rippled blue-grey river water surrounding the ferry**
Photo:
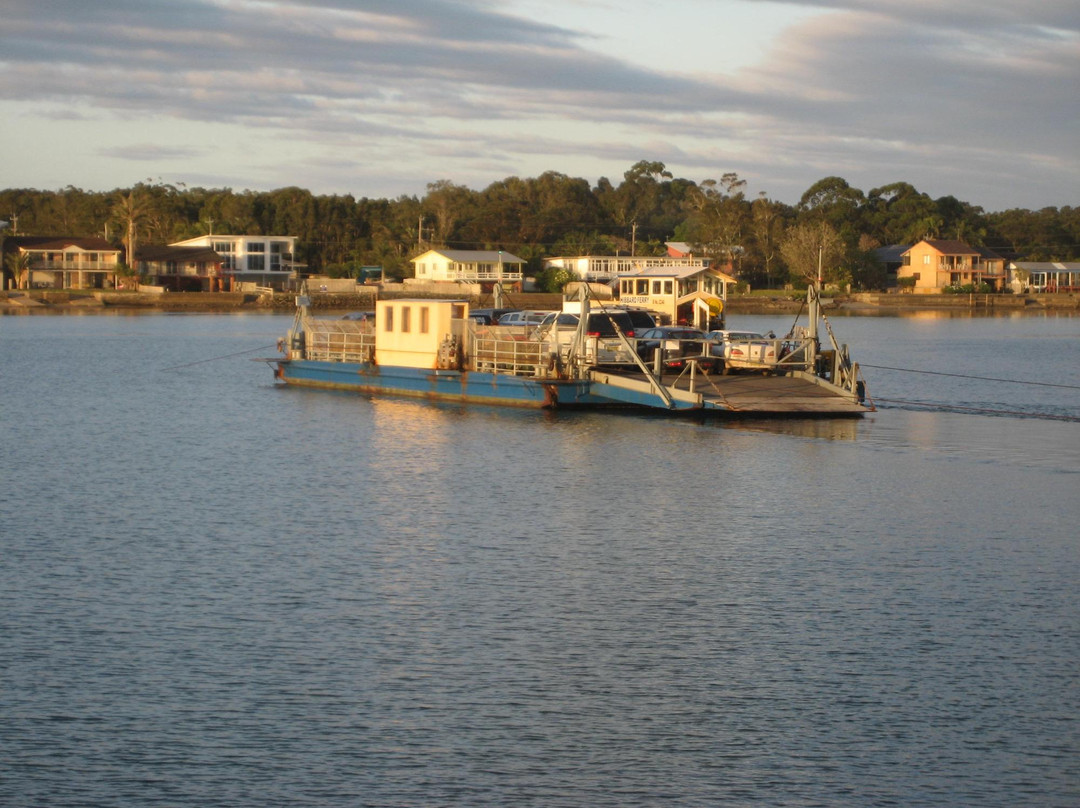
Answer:
<svg viewBox="0 0 1080 808"><path fill-rule="evenodd" d="M288 322L0 317L0 804L1080 804L1080 318L835 318L878 410L734 423Z"/></svg>

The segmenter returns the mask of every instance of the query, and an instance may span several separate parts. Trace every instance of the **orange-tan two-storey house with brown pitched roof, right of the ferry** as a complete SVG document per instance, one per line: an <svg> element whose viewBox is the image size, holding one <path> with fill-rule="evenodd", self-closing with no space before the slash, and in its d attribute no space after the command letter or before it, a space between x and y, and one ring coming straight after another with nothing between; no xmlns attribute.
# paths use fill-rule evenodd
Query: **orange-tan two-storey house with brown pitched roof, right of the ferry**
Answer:
<svg viewBox="0 0 1080 808"><path fill-rule="evenodd" d="M996 253L962 241L924 239L902 254L897 282L908 281L915 292L943 292L946 286L988 284L1001 291L1005 283L1005 260Z"/></svg>

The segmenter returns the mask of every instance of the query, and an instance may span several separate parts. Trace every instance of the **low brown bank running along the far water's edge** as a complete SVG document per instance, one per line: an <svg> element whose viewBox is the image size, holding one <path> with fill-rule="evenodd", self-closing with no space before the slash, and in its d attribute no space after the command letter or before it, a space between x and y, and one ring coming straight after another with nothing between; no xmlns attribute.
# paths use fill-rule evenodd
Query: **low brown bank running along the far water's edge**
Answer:
<svg viewBox="0 0 1080 808"><path fill-rule="evenodd" d="M796 293L777 295L737 295L727 300L727 311L738 314L795 313L804 306ZM404 289L382 289L381 298L432 297ZM311 307L316 310L374 309L376 289L370 294L314 293ZM522 293L512 295L523 309L557 309L562 295ZM483 307L486 298L470 298ZM141 293L102 289L31 289L0 292L0 313L62 313L70 311L166 311L166 312L241 312L292 311L294 293L255 294L245 292ZM855 293L822 299L826 313L895 315L920 311L956 313L1080 313L1080 294L1040 295L913 295Z"/></svg>

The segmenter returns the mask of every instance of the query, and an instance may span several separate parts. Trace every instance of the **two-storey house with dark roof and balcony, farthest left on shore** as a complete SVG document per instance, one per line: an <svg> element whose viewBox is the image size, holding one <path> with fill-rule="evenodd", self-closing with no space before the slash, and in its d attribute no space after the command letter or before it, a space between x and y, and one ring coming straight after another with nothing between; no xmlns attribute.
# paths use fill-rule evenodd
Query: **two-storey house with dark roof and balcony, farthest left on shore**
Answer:
<svg viewBox="0 0 1080 808"><path fill-rule="evenodd" d="M111 288L122 253L102 238L67 235L11 235L3 252L25 256L30 288L71 289Z"/></svg>

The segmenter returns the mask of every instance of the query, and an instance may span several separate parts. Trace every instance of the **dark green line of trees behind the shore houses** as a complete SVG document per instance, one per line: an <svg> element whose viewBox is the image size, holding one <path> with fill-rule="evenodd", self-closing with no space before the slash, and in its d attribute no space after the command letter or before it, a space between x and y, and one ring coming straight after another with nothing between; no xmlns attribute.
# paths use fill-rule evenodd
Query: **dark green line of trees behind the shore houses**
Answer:
<svg viewBox="0 0 1080 808"><path fill-rule="evenodd" d="M423 197L393 200L152 179L108 192L9 189L0 191L4 215L18 234L103 235L127 255L139 244L213 232L296 235L297 259L334 277L370 266L407 277L409 258L432 246L505 250L550 289L567 279L542 272L544 257L663 255L667 241L687 242L755 287L799 284L820 262L827 282L880 288L885 271L873 251L927 238L964 241L1008 259L1072 260L1080 253L1077 207L987 213L955 197L931 199L907 183L863 192L840 177L814 183L788 205L764 192L747 196L734 173L696 183L645 160L618 185L546 172L483 190L441 179Z"/></svg>

